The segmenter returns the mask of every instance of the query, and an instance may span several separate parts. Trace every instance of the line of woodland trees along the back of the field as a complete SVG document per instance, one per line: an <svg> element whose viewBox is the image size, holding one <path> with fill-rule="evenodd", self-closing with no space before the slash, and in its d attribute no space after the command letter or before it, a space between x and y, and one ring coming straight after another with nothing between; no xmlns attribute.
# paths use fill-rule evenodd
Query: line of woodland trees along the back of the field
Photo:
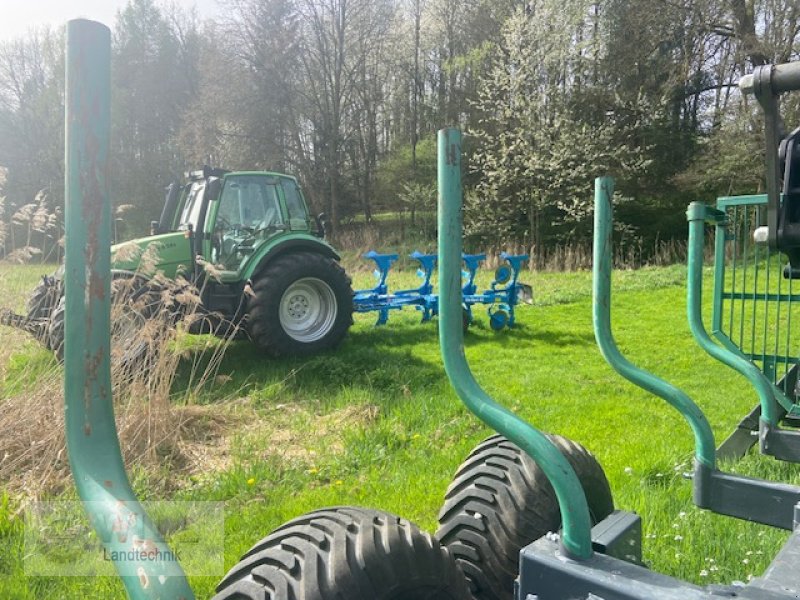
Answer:
<svg viewBox="0 0 800 600"><path fill-rule="evenodd" d="M222 2L206 20L130 0L112 24L126 237L202 164L296 175L334 234L430 211L449 125L476 244L586 242L605 173L625 235L683 235L690 200L763 189L759 110L736 82L800 41L795 0ZM52 29L0 43L0 257L62 235L63 46Z"/></svg>

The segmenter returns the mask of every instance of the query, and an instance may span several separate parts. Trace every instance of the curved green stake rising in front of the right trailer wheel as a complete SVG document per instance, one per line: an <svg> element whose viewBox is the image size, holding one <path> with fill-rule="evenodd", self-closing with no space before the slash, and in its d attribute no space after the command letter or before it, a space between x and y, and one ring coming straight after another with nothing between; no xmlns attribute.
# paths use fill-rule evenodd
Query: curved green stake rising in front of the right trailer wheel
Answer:
<svg viewBox="0 0 800 600"><path fill-rule="evenodd" d="M475 415L517 444L542 468L561 509L564 552L592 556L591 521L575 471L547 437L492 400L478 385L464 356L461 305L461 133L439 131L439 343L444 367L456 393Z"/></svg>

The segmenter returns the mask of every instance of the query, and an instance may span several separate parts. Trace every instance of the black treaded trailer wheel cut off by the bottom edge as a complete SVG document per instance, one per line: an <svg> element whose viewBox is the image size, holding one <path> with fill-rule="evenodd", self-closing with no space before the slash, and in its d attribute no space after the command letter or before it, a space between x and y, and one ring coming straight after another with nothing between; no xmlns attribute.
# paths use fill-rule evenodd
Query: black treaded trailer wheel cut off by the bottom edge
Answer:
<svg viewBox="0 0 800 600"><path fill-rule="evenodd" d="M413 523L335 507L289 521L253 546L213 600L470 600L447 550Z"/></svg>

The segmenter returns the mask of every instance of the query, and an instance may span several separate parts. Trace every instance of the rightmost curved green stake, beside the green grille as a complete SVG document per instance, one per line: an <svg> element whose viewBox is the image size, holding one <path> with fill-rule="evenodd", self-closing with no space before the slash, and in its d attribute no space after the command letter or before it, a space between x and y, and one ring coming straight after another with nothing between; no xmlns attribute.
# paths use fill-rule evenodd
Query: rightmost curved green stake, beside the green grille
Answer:
<svg viewBox="0 0 800 600"><path fill-rule="evenodd" d="M707 215L707 207L702 202L692 202L686 211L686 218L689 220L689 285L686 290L689 326L703 350L750 381L761 403L761 420L775 426L778 424L778 412L772 382L752 362L715 344L703 324L703 244Z"/></svg>

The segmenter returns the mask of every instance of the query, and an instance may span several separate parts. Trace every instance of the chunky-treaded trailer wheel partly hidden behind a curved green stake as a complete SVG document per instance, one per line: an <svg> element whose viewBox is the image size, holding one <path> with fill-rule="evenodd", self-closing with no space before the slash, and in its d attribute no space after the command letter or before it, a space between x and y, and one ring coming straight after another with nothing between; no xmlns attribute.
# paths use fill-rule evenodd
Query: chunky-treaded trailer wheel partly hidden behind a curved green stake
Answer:
<svg viewBox="0 0 800 600"><path fill-rule="evenodd" d="M549 435L580 479L592 522L614 510L602 468L580 444ZM501 435L481 442L456 471L439 512L436 537L459 564L475 600L510 600L519 552L561 527L542 469Z"/></svg>

